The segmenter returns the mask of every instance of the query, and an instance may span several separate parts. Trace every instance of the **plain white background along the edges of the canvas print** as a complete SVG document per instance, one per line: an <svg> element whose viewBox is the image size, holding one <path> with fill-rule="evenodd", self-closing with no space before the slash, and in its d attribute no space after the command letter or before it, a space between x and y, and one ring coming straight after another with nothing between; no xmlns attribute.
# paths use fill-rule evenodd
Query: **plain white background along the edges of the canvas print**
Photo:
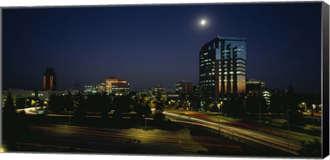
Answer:
<svg viewBox="0 0 330 160"><path fill-rule="evenodd" d="M140 1L133 1L133 0L116 0L116 1L105 1L105 0L0 0L0 7L14 7L14 6L68 6L68 5L113 5L113 4L156 4L156 3L239 3L239 2L264 2L264 0L140 0ZM271 1L271 2L285 2L285 1ZM325 0L326 3L330 4L330 0ZM2 65L2 64L1 64ZM124 156L124 155L60 155L60 154L32 154L32 153L1 153L0 159L47 159L47 160L63 160L63 159L80 159L80 160L90 160L90 159L134 159L134 160L212 160L212 159L223 159L224 157L164 157L164 156ZM255 159L265 159L265 158L233 158L233 157L226 157L225 159L228 160L255 160ZM278 158L282 159L282 158ZM330 158L328 157L327 160Z"/></svg>

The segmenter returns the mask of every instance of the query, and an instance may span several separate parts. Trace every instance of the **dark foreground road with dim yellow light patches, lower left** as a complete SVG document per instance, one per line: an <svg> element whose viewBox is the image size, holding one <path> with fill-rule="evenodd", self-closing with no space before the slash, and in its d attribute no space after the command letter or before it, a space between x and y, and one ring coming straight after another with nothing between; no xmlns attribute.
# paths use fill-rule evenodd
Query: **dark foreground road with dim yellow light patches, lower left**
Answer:
<svg viewBox="0 0 330 160"><path fill-rule="evenodd" d="M86 126L43 124L28 126L23 142L6 142L6 147L19 151L103 152L197 155L217 148L244 155L239 144L219 137L191 135L190 130L163 131L159 129L98 129ZM210 141L214 143L209 143ZM19 148L14 148L19 146ZM239 153L241 152L241 153ZM219 152L221 153L221 152Z"/></svg>

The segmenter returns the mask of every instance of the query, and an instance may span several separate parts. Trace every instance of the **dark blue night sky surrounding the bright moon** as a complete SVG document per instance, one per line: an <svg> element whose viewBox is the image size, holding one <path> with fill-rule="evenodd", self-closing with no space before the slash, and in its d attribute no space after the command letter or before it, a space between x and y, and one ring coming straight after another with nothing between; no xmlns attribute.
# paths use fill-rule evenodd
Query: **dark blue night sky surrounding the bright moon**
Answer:
<svg viewBox="0 0 330 160"><path fill-rule="evenodd" d="M23 8L2 12L3 88L41 90L105 77L131 90L198 82L199 50L216 36L247 39L247 78L320 92L321 3ZM201 19L207 25L201 27Z"/></svg>

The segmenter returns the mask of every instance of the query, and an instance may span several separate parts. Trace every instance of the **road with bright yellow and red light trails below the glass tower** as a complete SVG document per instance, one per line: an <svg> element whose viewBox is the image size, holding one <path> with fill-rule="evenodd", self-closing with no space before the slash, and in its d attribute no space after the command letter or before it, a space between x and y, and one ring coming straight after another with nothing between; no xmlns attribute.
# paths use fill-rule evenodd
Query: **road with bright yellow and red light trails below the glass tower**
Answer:
<svg viewBox="0 0 330 160"><path fill-rule="evenodd" d="M164 114L175 118L174 120L177 122L208 127L210 129L220 131L221 133L234 135L241 139L246 139L251 142L289 152L294 155L298 155L297 150L301 148L300 140L313 138L311 135L305 135L302 133L289 132L289 134L287 134L287 132L281 130L265 129L239 122L230 123L229 120L221 120L219 124L219 119L198 113L188 113L183 115L164 111Z"/></svg>

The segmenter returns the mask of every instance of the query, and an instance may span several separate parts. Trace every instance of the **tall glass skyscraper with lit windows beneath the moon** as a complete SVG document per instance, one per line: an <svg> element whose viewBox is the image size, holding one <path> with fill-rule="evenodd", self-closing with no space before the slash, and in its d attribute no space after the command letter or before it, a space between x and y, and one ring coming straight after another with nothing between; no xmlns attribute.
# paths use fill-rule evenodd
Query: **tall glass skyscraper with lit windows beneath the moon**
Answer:
<svg viewBox="0 0 330 160"><path fill-rule="evenodd" d="M245 38L219 37L199 51L201 98L220 101L245 92Z"/></svg>

